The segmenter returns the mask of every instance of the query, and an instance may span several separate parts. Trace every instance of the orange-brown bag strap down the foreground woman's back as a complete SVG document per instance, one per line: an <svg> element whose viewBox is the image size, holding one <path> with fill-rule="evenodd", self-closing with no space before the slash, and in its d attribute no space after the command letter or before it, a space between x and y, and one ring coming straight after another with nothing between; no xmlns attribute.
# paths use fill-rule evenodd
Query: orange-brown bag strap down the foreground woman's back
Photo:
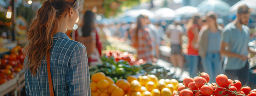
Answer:
<svg viewBox="0 0 256 96"><path fill-rule="evenodd" d="M50 70L50 51L47 53L47 73L48 73L48 84L50 96L54 96L53 86L52 86L52 75Z"/></svg>

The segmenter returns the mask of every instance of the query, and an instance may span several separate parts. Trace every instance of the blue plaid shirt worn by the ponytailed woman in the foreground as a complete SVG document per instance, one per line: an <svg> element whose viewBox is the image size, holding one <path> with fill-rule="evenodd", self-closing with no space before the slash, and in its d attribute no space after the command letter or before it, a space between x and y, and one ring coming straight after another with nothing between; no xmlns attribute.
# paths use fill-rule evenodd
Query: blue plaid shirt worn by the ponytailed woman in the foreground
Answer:
<svg viewBox="0 0 256 96"><path fill-rule="evenodd" d="M27 61L25 58L25 63ZM70 40L64 33L56 33L50 51L50 69L55 96L90 96L90 75L86 48ZM27 96L49 96L46 59L36 76L25 68Z"/></svg>

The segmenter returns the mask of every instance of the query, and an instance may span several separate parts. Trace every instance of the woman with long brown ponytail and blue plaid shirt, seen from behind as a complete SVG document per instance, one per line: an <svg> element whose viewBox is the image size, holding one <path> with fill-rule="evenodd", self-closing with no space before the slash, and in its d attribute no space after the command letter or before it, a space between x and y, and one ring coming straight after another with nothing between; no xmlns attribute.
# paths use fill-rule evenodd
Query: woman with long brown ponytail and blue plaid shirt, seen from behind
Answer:
<svg viewBox="0 0 256 96"><path fill-rule="evenodd" d="M46 0L27 30L27 96L90 96L86 48L65 34L78 18L78 0Z"/></svg>

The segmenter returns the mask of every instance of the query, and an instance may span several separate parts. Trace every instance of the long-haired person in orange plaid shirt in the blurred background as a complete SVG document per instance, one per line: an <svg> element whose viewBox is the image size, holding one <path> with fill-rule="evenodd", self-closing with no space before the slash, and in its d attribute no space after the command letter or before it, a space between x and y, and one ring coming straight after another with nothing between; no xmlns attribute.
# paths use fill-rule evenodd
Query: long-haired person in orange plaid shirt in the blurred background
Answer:
<svg viewBox="0 0 256 96"><path fill-rule="evenodd" d="M131 34L132 46L137 49L137 60L153 62L152 41L154 40L150 28L146 27L148 16L140 15L137 18L137 27Z"/></svg>

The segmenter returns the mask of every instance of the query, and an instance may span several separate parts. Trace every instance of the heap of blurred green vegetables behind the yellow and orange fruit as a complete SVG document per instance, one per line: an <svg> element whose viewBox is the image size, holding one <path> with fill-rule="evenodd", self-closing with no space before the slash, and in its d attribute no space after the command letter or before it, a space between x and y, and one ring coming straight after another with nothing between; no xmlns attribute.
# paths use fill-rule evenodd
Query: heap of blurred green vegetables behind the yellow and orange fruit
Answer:
<svg viewBox="0 0 256 96"><path fill-rule="evenodd" d="M90 76L96 72L103 72L106 76L110 76L113 80L119 78L127 78L130 75L145 73L140 65L131 65L130 62L125 60L116 60L113 56L102 56L101 60L103 64L97 66L90 66ZM118 62L116 62L118 61Z"/></svg>

